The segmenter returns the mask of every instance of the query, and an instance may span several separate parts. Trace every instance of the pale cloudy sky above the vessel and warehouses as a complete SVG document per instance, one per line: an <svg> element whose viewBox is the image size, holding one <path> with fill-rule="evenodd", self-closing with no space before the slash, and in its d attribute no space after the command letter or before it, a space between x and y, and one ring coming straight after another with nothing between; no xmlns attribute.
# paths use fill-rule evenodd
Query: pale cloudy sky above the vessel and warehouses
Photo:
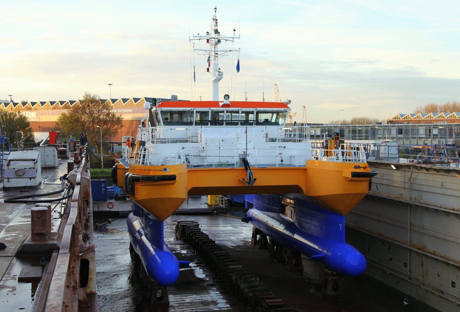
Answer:
<svg viewBox="0 0 460 312"><path fill-rule="evenodd" d="M276 84L294 120L314 123L460 101L455 0L3 0L0 99L208 100L189 38L210 30L214 6L221 34L240 37L220 60L230 101L275 101Z"/></svg>

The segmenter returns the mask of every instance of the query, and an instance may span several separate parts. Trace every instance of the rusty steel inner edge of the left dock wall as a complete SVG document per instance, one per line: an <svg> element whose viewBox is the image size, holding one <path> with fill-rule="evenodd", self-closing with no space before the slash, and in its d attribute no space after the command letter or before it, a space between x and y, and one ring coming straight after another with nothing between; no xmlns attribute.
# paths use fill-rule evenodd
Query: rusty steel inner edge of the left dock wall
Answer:
<svg viewBox="0 0 460 312"><path fill-rule="evenodd" d="M55 251L35 312L98 311L95 251L92 241L91 177L83 151L68 175L74 186L59 228L61 247Z"/></svg>

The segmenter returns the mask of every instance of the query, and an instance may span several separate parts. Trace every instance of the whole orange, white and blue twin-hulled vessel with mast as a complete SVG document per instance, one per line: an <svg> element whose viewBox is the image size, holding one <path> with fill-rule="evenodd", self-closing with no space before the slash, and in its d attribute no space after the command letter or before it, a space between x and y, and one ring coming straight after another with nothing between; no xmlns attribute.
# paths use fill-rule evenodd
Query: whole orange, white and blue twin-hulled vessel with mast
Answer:
<svg viewBox="0 0 460 312"><path fill-rule="evenodd" d="M306 125L287 126L290 101L219 100L221 50L235 36L220 34L216 18L192 40L208 56L211 101L146 103L135 142L125 146L113 178L133 201L128 228L148 276L173 284L180 263L163 241L163 221L190 195L248 194L252 222L279 243L333 270L359 275L364 256L345 243L344 216L363 199L376 175L359 144L339 136L312 146ZM344 260L345 259L345 260Z"/></svg>

